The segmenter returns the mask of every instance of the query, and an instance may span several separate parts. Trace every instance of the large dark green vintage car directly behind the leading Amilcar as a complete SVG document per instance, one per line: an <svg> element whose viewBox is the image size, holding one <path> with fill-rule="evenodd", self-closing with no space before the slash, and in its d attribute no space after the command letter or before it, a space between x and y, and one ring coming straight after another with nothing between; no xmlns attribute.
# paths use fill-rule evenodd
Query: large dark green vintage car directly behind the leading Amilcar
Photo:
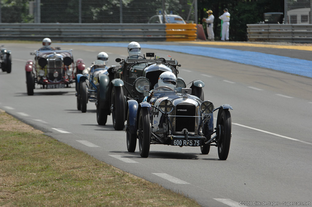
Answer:
<svg viewBox="0 0 312 207"><path fill-rule="evenodd" d="M99 76L99 90L96 105L96 118L99 125L105 125L107 116L112 113L113 126L115 130L124 129L125 111L127 100L136 100L138 103L144 99L144 88L142 85L148 85L153 88L158 82L158 77L165 71L170 71L178 75L177 60L166 60L154 53L145 55L135 55L125 60L119 58L116 62L119 67L111 67L107 75ZM151 59L154 57L154 59ZM186 84L183 78L177 78L177 90L185 88ZM193 81L193 95L203 99L204 83L200 80Z"/></svg>

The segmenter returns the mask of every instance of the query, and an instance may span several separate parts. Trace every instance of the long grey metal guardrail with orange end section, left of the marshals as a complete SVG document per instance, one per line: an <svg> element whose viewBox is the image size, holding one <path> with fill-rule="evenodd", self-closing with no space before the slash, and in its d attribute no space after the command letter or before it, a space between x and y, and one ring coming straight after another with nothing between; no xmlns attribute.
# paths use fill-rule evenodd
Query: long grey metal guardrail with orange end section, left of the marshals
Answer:
<svg viewBox="0 0 312 207"><path fill-rule="evenodd" d="M0 40L190 41L196 24L0 23Z"/></svg>

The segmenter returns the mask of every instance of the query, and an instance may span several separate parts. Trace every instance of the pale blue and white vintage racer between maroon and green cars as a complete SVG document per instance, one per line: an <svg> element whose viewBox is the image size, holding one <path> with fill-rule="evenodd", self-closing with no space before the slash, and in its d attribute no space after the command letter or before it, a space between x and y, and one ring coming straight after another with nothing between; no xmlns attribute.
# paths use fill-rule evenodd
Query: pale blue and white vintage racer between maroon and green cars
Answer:
<svg viewBox="0 0 312 207"><path fill-rule="evenodd" d="M105 65L105 61L96 60L93 64L82 71L82 74L77 74L77 109L82 113L87 111L87 103L96 102L97 89L99 86L99 75L108 75L108 66Z"/></svg>

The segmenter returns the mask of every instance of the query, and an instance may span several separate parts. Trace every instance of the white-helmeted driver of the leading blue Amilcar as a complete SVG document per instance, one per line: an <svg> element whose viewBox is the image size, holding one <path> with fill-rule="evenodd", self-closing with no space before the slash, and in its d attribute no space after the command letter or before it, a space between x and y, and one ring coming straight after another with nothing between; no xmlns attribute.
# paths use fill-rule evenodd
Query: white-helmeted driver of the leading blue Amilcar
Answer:
<svg viewBox="0 0 312 207"><path fill-rule="evenodd" d="M166 86L166 87L169 87L170 89L161 88L160 90L175 91L176 85L177 85L177 77L172 72L166 71L159 75L158 83L155 84L154 89L157 89L158 87ZM149 91L150 95L145 96L143 99L143 102L149 102L149 100L152 98L154 94L154 89Z"/></svg>

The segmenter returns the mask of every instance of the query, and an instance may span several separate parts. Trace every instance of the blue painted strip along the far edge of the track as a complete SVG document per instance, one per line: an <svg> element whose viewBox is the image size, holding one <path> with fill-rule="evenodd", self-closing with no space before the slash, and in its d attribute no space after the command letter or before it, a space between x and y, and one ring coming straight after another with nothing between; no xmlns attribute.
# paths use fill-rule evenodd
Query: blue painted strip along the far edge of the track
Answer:
<svg viewBox="0 0 312 207"><path fill-rule="evenodd" d="M128 43L61 43L63 45L85 45L85 46L108 46L124 47ZM230 60L246 65L254 65L273 70L280 70L291 74L302 75L312 78L312 61L290 58L280 55L271 55L261 52L241 51L225 48L203 47L203 46L182 46L182 45L152 45L140 44L141 48L167 50L182 52L191 55L201 55L221 60ZM268 49L269 50L269 49ZM170 54L169 54L170 55ZM178 60L179 61L179 60Z"/></svg>

